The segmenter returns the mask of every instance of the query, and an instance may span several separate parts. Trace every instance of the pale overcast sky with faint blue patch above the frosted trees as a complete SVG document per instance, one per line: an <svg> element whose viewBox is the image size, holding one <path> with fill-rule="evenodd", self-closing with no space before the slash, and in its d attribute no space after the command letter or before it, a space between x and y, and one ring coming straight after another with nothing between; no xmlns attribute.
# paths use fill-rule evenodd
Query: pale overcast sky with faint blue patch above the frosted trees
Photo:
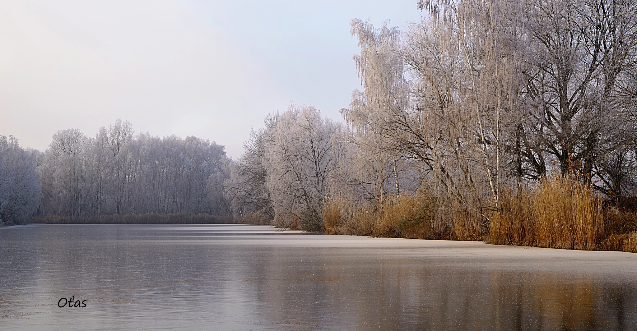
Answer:
<svg viewBox="0 0 637 331"><path fill-rule="evenodd" d="M401 1L0 1L0 135L45 150L117 118L228 155L290 102L341 120L360 87L351 18L404 29Z"/></svg>

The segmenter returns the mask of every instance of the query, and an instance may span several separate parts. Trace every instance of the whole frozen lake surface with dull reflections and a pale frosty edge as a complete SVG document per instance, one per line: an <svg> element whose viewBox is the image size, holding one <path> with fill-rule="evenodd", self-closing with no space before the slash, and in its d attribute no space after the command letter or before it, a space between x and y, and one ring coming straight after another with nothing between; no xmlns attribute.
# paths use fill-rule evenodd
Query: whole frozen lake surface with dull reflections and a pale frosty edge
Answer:
<svg viewBox="0 0 637 331"><path fill-rule="evenodd" d="M0 330L637 330L634 253L254 225L11 227L0 249Z"/></svg>

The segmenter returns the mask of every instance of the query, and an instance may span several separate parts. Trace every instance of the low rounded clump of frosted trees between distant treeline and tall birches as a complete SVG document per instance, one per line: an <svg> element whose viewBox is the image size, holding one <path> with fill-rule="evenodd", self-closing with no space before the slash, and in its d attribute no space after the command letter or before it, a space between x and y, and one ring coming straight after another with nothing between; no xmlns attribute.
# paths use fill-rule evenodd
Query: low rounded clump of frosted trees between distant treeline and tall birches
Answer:
<svg viewBox="0 0 637 331"><path fill-rule="evenodd" d="M337 167L333 137L341 130L313 106L266 116L225 182L235 213L257 213L280 227L322 230L321 208Z"/></svg>

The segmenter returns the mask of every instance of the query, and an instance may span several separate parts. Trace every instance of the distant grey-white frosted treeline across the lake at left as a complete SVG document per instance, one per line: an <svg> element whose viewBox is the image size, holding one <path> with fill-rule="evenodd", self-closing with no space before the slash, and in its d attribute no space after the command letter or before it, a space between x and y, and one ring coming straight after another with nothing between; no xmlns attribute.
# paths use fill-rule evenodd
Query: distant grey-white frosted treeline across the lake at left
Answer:
<svg viewBox="0 0 637 331"><path fill-rule="evenodd" d="M117 120L95 137L59 130L45 152L0 137L0 162L3 222L31 222L32 216L47 223L101 223L101 216L112 215L130 215L130 222L147 222L145 215L230 216L218 184L229 178L231 160L224 146L197 137L135 136L131 123Z"/></svg>

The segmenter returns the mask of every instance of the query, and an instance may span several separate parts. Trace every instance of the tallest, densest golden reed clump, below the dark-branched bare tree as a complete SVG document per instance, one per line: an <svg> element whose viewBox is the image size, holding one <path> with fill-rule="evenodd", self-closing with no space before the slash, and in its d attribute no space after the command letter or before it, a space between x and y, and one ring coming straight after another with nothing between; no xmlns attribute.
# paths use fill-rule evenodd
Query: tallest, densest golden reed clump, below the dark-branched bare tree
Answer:
<svg viewBox="0 0 637 331"><path fill-rule="evenodd" d="M487 243L596 250L605 234L601 199L571 178L545 178L501 203Z"/></svg>

